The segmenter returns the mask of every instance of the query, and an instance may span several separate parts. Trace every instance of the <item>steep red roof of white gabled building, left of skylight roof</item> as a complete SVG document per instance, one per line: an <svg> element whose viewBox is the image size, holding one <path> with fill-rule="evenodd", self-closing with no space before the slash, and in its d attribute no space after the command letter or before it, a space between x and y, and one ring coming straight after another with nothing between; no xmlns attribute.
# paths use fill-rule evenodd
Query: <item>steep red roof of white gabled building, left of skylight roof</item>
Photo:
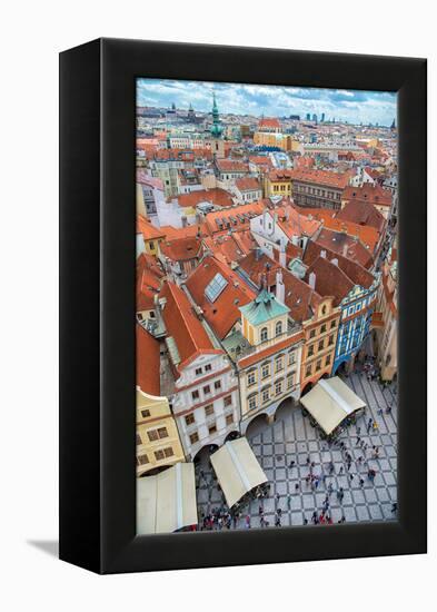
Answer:
<svg viewBox="0 0 437 612"><path fill-rule="evenodd" d="M221 351L213 348L208 334L195 314L192 305L180 287L168 280L163 285L159 297L166 298L162 318L167 335L173 338L178 347L180 356L179 372L197 355L221 353Z"/></svg>

